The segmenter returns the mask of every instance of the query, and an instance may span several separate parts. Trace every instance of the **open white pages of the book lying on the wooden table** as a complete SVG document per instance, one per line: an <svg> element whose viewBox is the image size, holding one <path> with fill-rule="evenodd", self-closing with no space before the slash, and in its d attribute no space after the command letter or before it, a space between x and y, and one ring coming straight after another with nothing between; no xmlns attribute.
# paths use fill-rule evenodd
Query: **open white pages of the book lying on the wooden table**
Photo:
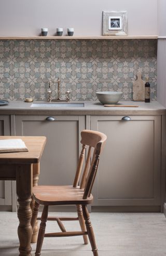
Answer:
<svg viewBox="0 0 166 256"><path fill-rule="evenodd" d="M3 149L27 149L21 139L0 140L0 150Z"/></svg>

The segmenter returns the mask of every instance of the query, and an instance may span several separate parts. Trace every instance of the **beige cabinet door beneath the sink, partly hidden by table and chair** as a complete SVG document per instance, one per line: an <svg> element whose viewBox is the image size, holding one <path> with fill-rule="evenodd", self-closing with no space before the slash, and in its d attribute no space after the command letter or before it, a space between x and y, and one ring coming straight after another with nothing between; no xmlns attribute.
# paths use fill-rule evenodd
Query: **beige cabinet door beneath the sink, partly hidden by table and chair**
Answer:
<svg viewBox="0 0 166 256"><path fill-rule="evenodd" d="M47 137L38 184L73 184L83 129L85 116L16 116L17 136Z"/></svg>

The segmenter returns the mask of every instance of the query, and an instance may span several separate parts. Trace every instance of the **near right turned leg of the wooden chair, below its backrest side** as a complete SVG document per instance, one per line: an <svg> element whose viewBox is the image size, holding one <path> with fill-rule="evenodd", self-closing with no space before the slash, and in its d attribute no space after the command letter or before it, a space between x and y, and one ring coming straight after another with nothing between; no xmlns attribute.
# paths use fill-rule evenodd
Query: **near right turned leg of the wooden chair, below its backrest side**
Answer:
<svg viewBox="0 0 166 256"><path fill-rule="evenodd" d="M98 249L96 247L95 244L95 238L94 238L94 233L93 233L93 228L92 228L92 224L90 221L90 215L87 209L86 205L82 205L82 211L83 211L83 215L84 215L84 219L85 219L85 224L87 227L87 232L88 232L88 237L89 237L89 241L92 247L92 252L94 256L99 256L98 255Z"/></svg>

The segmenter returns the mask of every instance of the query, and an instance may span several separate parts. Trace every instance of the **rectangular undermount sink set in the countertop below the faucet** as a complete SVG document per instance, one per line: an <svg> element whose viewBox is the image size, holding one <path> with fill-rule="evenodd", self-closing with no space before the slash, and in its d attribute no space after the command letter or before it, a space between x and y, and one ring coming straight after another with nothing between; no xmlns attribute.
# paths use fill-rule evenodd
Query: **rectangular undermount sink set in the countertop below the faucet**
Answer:
<svg viewBox="0 0 166 256"><path fill-rule="evenodd" d="M32 103L31 107L82 107L84 103L74 102L44 102L44 103Z"/></svg>

